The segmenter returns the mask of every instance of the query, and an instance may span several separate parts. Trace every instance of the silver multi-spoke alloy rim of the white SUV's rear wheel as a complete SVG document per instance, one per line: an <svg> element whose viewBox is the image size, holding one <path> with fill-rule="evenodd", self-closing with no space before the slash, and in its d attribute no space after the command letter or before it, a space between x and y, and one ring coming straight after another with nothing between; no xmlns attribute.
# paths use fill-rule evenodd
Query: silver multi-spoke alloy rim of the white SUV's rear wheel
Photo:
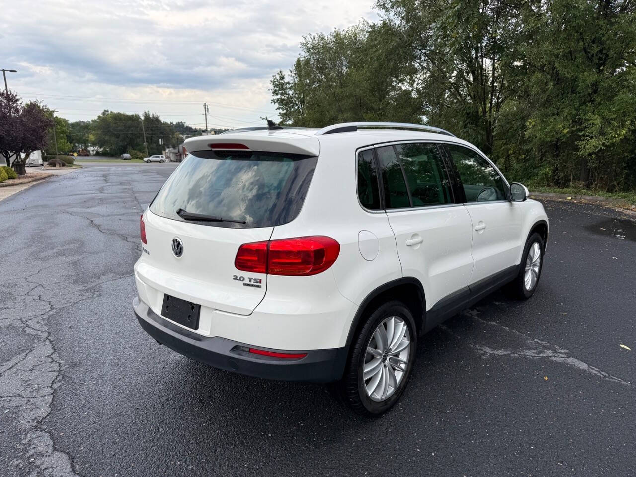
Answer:
<svg viewBox="0 0 636 477"><path fill-rule="evenodd" d="M371 401L385 401L396 392L406 375L410 351L411 334L404 319L391 316L378 324L364 356L364 389Z"/></svg>

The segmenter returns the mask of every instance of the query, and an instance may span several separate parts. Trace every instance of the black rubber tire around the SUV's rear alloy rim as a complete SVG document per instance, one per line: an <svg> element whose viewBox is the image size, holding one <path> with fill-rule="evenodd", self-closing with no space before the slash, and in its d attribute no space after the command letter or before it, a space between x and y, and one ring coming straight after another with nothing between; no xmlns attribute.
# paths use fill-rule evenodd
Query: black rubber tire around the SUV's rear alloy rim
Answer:
<svg viewBox="0 0 636 477"><path fill-rule="evenodd" d="M364 388L363 368L366 348L378 325L388 317L394 315L401 317L404 320L404 323L406 323L406 326L408 326L411 339L408 364L406 365L401 381L397 385L396 391L385 399L385 401L376 402L372 401L370 397L367 396L366 389ZM334 391L338 393L340 400L349 406L349 408L351 408L351 410L355 413L367 417L377 417L391 409L401 396L406 384L408 383L411 370L413 370L416 352L417 327L415 326L415 320L413 319L411 310L409 310L409 308L401 301L387 301L368 315L363 327L359 330L357 335L354 336L351 342L349 358L347 359L344 375L342 380L335 383Z"/></svg>

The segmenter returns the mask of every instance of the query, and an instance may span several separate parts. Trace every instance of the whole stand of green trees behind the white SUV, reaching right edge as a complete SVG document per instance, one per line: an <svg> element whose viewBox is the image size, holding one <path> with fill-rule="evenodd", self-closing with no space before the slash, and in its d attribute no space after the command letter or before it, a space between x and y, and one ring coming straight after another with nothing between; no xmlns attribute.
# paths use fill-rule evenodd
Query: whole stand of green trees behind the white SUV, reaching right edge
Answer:
<svg viewBox="0 0 636 477"><path fill-rule="evenodd" d="M425 122L530 186L636 188L632 0L378 0L272 78L284 123Z"/></svg>

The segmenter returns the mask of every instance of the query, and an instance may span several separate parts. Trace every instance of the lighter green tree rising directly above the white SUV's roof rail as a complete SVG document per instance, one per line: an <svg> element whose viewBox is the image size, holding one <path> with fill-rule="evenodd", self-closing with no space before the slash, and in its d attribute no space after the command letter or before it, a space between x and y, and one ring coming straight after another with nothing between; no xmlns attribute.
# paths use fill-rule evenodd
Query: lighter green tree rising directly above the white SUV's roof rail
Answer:
<svg viewBox="0 0 636 477"><path fill-rule="evenodd" d="M415 70L398 42L384 23L305 37L291 71L271 81L281 122L421 120L421 103L411 93Z"/></svg>

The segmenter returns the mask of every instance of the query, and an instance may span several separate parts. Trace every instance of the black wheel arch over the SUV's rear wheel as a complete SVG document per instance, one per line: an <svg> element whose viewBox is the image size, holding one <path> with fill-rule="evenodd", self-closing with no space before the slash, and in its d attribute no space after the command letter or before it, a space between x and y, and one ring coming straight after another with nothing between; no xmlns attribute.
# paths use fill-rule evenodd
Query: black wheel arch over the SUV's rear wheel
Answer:
<svg viewBox="0 0 636 477"><path fill-rule="evenodd" d="M410 308L411 312L413 312L417 332L418 334L420 333L424 325L424 315L426 312L424 287L422 286L422 282L415 277L402 277L380 285L361 301L349 328L347 348L350 347L359 329L364 326L364 316L374 308L377 308L380 303L384 303L388 300L403 301L404 304Z"/></svg>

